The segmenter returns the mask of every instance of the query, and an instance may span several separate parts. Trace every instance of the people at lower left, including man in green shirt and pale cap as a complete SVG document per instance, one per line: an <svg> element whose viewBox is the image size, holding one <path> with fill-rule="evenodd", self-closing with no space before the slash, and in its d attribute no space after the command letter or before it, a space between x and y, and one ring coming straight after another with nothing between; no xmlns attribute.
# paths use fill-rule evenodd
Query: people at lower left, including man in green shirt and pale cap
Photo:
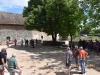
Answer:
<svg viewBox="0 0 100 75"><path fill-rule="evenodd" d="M20 67L18 66L17 60L16 60L16 54L12 54L10 58L7 58L7 52L6 49L1 49L0 52L0 75L4 75L5 68L9 71L10 75L15 75L15 72L19 75L22 75L22 71Z"/></svg>

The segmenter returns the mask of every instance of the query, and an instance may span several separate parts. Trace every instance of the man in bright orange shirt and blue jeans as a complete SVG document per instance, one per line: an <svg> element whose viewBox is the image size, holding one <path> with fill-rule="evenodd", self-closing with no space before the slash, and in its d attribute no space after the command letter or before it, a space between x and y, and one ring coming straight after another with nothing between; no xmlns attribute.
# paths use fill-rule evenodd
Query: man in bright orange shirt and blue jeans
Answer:
<svg viewBox="0 0 100 75"><path fill-rule="evenodd" d="M81 72L79 74L85 73L85 58L87 57L88 53L83 50L83 47L79 48L79 58L80 58L80 66L81 66Z"/></svg>

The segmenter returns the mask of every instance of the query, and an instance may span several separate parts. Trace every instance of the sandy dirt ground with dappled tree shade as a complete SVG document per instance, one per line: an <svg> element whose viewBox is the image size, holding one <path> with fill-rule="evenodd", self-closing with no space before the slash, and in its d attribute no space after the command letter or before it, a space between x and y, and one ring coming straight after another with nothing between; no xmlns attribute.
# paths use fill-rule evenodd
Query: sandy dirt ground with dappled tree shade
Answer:
<svg viewBox="0 0 100 75"><path fill-rule="evenodd" d="M7 48L6 45L3 45L0 46L0 49L2 48L7 49L8 58L11 57L13 53L16 53L16 59L23 72L22 75L67 75L65 48L41 45L35 48L21 47L20 45L17 45L17 47L11 45ZM91 56L87 59L90 58ZM84 75L100 75L100 67L95 68L94 66L96 65L90 63L92 63L92 61L87 60L87 72ZM100 65L100 63L98 63L98 65ZM72 67L75 67L74 62ZM77 71L73 68L71 74L79 75L79 72L80 70Z"/></svg>

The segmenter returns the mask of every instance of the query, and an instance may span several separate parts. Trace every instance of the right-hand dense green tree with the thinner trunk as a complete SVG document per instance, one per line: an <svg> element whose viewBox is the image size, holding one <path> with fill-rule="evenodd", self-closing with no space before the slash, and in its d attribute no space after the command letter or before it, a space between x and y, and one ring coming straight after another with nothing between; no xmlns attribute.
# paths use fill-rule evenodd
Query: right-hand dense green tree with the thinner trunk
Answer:
<svg viewBox="0 0 100 75"><path fill-rule="evenodd" d="M80 24L85 19L85 15L83 10L79 7L78 0L68 0L66 2L66 10L65 10L65 18L62 20L62 26L66 27L64 31L62 31L65 36L69 34L72 38L80 32ZM66 34L67 33L67 34ZM63 34L61 34L64 36Z"/></svg>

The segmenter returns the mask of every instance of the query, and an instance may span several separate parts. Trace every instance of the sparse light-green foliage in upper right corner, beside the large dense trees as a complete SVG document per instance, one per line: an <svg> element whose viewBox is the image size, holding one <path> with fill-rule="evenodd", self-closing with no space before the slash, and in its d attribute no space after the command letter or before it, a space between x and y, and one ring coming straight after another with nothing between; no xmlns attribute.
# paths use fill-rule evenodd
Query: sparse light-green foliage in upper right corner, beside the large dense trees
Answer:
<svg viewBox="0 0 100 75"><path fill-rule="evenodd" d="M100 0L81 0L81 7L87 15L87 27L91 30L100 26Z"/></svg>

